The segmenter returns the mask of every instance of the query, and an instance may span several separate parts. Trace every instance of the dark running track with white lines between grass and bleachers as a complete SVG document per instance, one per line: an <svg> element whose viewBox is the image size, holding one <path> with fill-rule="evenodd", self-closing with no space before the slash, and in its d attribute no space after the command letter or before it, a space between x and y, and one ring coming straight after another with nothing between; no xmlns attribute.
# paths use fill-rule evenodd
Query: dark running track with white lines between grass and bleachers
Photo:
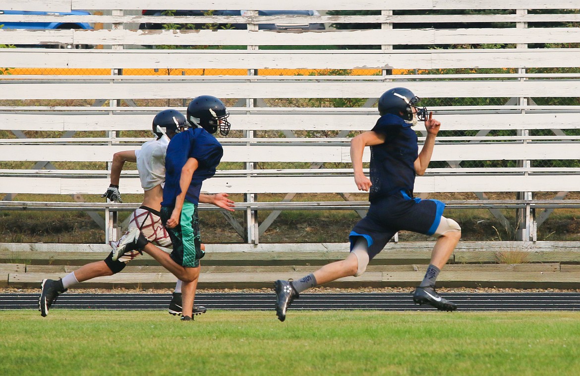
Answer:
<svg viewBox="0 0 580 376"><path fill-rule="evenodd" d="M580 310L578 292L468 293L448 292L445 298L462 311ZM0 294L0 310L38 309L38 294ZM165 310L171 294L63 294L52 309ZM209 309L273 310L276 295L216 293L195 295L195 303ZM302 294L291 309L436 310L414 305L411 294L400 292Z"/></svg>

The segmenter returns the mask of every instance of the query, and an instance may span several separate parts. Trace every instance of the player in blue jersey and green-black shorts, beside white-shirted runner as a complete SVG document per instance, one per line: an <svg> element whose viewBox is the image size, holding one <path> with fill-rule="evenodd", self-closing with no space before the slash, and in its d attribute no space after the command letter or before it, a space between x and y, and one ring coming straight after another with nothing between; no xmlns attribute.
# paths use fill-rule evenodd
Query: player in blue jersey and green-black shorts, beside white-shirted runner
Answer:
<svg viewBox="0 0 580 376"><path fill-rule="evenodd" d="M222 159L222 145L213 134L219 130L222 136L227 135L230 131L228 116L226 106L218 98L195 97L187 106L187 122L191 128L169 142L161 220L173 243L171 255L160 250L139 229L132 229L113 256L115 259L134 250L146 252L182 280L183 321L193 320L200 259L204 256L197 216L201 186L215 174Z"/></svg>

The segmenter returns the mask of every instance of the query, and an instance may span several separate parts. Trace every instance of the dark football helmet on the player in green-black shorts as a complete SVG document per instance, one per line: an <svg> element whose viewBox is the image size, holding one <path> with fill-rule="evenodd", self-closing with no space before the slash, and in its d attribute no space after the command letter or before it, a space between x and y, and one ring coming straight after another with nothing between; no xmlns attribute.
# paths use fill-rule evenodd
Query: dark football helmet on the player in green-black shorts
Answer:
<svg viewBox="0 0 580 376"><path fill-rule="evenodd" d="M226 105L211 95L195 97L187 106L187 121L201 126L212 135L219 129L220 135L227 136L231 126L227 121L229 115Z"/></svg>

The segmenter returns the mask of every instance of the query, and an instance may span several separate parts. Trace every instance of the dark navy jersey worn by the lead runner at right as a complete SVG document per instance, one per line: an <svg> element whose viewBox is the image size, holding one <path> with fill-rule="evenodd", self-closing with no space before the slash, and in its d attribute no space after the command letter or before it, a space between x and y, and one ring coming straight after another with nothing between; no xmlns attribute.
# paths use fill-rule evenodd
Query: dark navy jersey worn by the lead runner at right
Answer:
<svg viewBox="0 0 580 376"><path fill-rule="evenodd" d="M411 124L397 115L385 114L371 131L385 135L385 143L371 146L372 186L369 190L369 201L401 190L412 196L419 146Z"/></svg>

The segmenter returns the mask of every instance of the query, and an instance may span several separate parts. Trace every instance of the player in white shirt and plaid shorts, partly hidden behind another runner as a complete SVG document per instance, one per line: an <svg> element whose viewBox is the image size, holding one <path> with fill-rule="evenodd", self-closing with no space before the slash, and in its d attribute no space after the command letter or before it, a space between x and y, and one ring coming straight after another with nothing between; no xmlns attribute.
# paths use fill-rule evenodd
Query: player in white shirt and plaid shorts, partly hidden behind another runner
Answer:
<svg viewBox="0 0 580 376"><path fill-rule="evenodd" d="M129 218L129 228L124 236L120 240L110 243L113 250L111 250L106 259L86 264L67 274L62 279L45 279L42 281L39 310L43 317L48 314L50 306L56 301L59 294L67 291L68 288L96 277L111 276L121 272L129 261L139 256L139 252L132 251L126 252L118 259L113 259L118 245L125 241L132 229L139 229L148 240L161 247L172 247L171 238L162 225L160 218L163 196L162 185L165 180L165 154L169 140L186 128L187 121L182 113L173 109L161 111L153 118L155 139L144 143L140 150L119 151L114 154L113 164L111 165L111 184L102 197L122 203L121 194L119 193L121 171L125 162L136 162L144 190L143 202L139 208L132 212ZM200 202L214 204L220 208L233 211L234 202L227 197L226 193L215 195L201 194ZM173 315L182 312L181 287L182 281L178 280L169 304L169 313ZM206 312L206 309L202 306L195 306L193 309L194 314L204 312Z"/></svg>

